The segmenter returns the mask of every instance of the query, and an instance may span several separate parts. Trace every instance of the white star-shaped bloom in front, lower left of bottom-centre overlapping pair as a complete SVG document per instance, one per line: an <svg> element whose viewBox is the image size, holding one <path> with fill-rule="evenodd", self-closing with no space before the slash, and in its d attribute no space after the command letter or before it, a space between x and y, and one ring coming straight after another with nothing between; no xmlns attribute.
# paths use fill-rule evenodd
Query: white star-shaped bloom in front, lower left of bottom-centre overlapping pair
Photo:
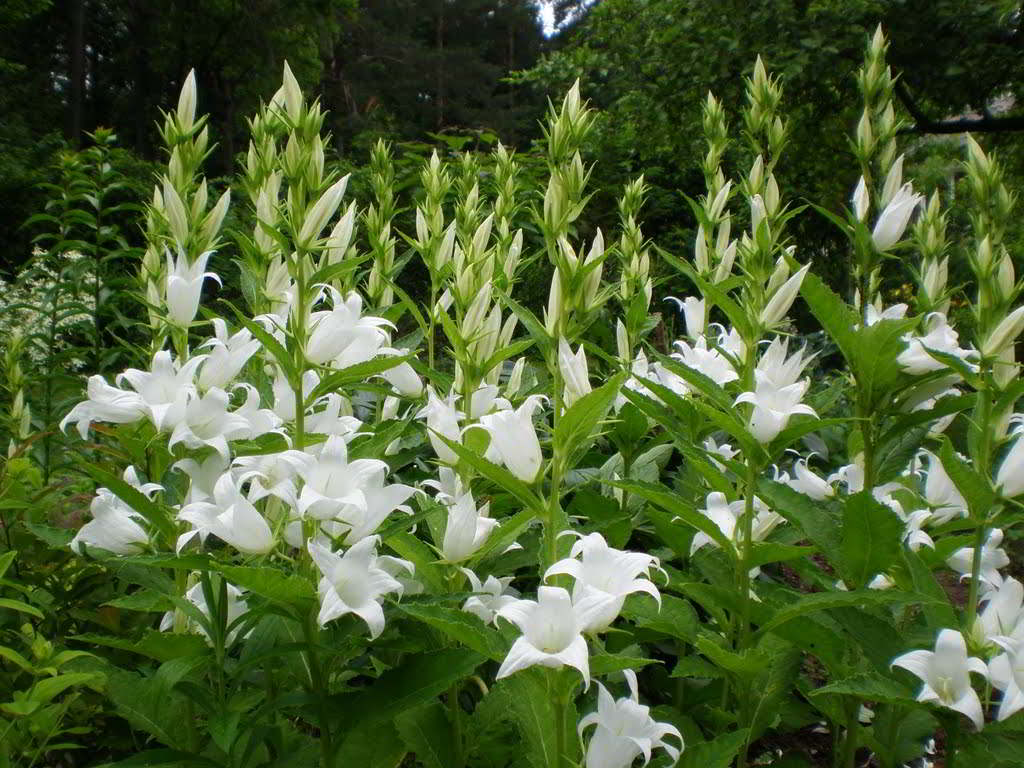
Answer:
<svg viewBox="0 0 1024 768"><path fill-rule="evenodd" d="M590 609L595 608L600 606ZM498 680L535 665L568 666L579 670L590 687L590 653L582 634L590 615L586 606L572 603L568 592L561 587L539 587L537 600L516 600L500 608L498 615L522 632L502 662Z"/></svg>

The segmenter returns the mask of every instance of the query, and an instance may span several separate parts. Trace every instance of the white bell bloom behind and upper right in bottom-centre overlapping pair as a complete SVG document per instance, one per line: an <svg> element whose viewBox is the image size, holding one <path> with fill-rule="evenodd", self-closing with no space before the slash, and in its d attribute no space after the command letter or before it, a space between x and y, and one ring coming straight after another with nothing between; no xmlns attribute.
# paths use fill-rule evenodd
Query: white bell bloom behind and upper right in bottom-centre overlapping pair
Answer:
<svg viewBox="0 0 1024 768"><path fill-rule="evenodd" d="M579 558L579 559L578 559ZM618 617L626 597L634 592L646 592L662 605L662 593L649 579L651 568L658 568L658 559L642 552L612 549L604 537L594 532L580 537L569 556L545 571L545 580L564 573L575 580L572 602L575 605L597 603L599 609L590 615L584 632L603 632Z"/></svg>

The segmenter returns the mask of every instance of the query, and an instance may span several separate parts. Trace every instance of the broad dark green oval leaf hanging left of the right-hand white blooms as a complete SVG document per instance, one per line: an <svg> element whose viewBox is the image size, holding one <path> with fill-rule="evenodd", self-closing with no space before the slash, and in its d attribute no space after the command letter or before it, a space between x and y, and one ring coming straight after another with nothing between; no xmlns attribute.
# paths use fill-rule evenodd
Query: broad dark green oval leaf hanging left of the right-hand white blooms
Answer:
<svg viewBox="0 0 1024 768"><path fill-rule="evenodd" d="M846 500L842 536L843 578L856 589L899 560L903 522L871 494L861 490Z"/></svg>

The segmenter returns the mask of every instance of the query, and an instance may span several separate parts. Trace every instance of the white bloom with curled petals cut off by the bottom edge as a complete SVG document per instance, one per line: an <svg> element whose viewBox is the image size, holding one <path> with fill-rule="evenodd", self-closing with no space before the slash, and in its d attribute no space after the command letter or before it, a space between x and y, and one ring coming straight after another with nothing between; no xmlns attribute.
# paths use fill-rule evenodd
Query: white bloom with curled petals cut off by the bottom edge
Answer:
<svg viewBox="0 0 1024 768"><path fill-rule="evenodd" d="M640 703L636 673L625 670L623 674L630 695L616 700L598 683L597 712L580 720L577 730L581 739L587 728L595 726L587 746L586 768L631 768L641 755L643 765L647 765L651 752L659 748L669 754L674 765L683 749L683 735L674 725L654 721L650 708ZM666 741L666 736L678 738L679 746Z"/></svg>

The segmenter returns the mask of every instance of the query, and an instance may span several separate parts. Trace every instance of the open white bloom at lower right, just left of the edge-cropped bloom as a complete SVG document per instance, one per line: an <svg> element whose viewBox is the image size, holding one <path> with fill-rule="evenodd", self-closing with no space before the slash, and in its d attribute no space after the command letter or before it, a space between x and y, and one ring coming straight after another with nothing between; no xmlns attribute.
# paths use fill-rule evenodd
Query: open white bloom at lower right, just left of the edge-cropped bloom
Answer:
<svg viewBox="0 0 1024 768"><path fill-rule="evenodd" d="M981 700L971 685L975 672L988 677L988 669L980 658L968 657L967 643L956 630L942 630L935 641L935 650L911 650L893 659L893 667L902 667L921 678L925 685L919 701L930 701L967 715L975 728L981 729L984 716Z"/></svg>

